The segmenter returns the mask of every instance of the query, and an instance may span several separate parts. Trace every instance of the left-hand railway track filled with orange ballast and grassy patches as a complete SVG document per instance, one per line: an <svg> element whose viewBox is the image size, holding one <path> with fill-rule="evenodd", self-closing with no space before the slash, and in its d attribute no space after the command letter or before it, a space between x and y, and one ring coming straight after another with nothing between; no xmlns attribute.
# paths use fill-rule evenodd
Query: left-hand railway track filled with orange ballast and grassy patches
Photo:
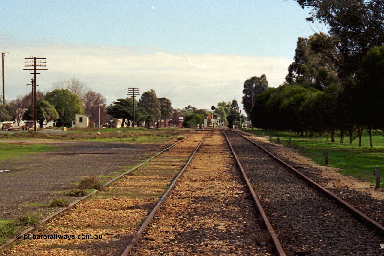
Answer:
<svg viewBox="0 0 384 256"><path fill-rule="evenodd" d="M22 234L3 255L120 255L207 132L189 136L106 183L106 191Z"/></svg>

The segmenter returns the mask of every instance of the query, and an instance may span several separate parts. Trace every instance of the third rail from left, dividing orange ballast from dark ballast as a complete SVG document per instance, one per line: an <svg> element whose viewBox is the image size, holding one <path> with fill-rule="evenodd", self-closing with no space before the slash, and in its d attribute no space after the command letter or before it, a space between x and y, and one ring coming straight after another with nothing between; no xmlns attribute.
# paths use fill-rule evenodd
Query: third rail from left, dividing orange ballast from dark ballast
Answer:
<svg viewBox="0 0 384 256"><path fill-rule="evenodd" d="M235 150L233 150L233 147L232 147L232 145L231 145L227 135L225 134L225 132L223 130L222 130L222 132L223 132L225 138L227 139L228 145L229 145L229 147L230 147L230 149L232 151L233 156L236 159L237 165L239 166L239 168L240 168L240 170L241 170L241 172L243 174L243 177L244 177L245 182L247 183L248 189L250 190L250 192L252 194L253 201L255 201L257 209L260 212L260 214L261 214L261 216L263 218L264 224L265 224L266 228L268 229L268 232L269 232L269 234L270 234L270 236L271 236L271 238L273 240L273 244L275 244L275 249L276 249L278 255L279 256L286 256L285 251L284 251L283 247L281 246L281 243L280 243L279 239L277 238L277 235L276 235L275 231L273 230L272 225L269 222L268 217L265 214L263 206L260 203L260 201L258 200L258 198L256 196L256 193L253 190L250 181L248 180L247 174L245 173L244 168L243 168L242 164L240 163L240 160L238 159L238 157L237 157L237 155L235 153Z"/></svg>

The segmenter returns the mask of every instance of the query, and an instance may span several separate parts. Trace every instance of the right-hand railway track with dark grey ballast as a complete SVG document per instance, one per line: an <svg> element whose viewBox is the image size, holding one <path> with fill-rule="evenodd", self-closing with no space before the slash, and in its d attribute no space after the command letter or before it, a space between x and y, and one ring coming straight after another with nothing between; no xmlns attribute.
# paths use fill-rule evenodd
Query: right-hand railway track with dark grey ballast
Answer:
<svg viewBox="0 0 384 256"><path fill-rule="evenodd" d="M287 255L384 255L382 226L366 219L361 224L352 209L308 185L254 143L233 131L225 134Z"/></svg>

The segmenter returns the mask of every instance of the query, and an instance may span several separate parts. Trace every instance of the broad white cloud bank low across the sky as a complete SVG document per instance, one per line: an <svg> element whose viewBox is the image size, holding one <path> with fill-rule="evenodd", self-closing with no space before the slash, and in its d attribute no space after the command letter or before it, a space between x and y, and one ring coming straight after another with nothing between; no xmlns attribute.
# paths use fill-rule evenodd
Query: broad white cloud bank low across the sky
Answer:
<svg viewBox="0 0 384 256"><path fill-rule="evenodd" d="M48 71L37 76L38 88L75 77L106 96L108 103L127 96L128 87L140 92L154 89L158 97L172 100L176 108L187 105L210 108L219 101L241 103L243 82L266 74L270 86L280 85L290 59L241 55L169 53L161 49L18 43L0 37L5 48L5 96L7 100L30 91L32 75L24 71L25 57L46 57ZM10 43L11 42L11 43ZM0 93L1 94L1 93Z"/></svg>

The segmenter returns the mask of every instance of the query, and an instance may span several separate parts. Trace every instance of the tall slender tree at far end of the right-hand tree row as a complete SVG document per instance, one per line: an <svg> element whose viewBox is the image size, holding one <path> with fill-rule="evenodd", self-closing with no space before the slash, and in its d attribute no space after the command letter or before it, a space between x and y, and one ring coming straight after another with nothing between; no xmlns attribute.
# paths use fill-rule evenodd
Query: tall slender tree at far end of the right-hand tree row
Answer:
<svg viewBox="0 0 384 256"><path fill-rule="evenodd" d="M244 111L247 115L250 115L251 108L253 106L255 97L268 89L268 81L266 80L266 75L263 74L260 77L252 76L244 82L243 90L243 106ZM227 112L228 114L228 112Z"/></svg>

